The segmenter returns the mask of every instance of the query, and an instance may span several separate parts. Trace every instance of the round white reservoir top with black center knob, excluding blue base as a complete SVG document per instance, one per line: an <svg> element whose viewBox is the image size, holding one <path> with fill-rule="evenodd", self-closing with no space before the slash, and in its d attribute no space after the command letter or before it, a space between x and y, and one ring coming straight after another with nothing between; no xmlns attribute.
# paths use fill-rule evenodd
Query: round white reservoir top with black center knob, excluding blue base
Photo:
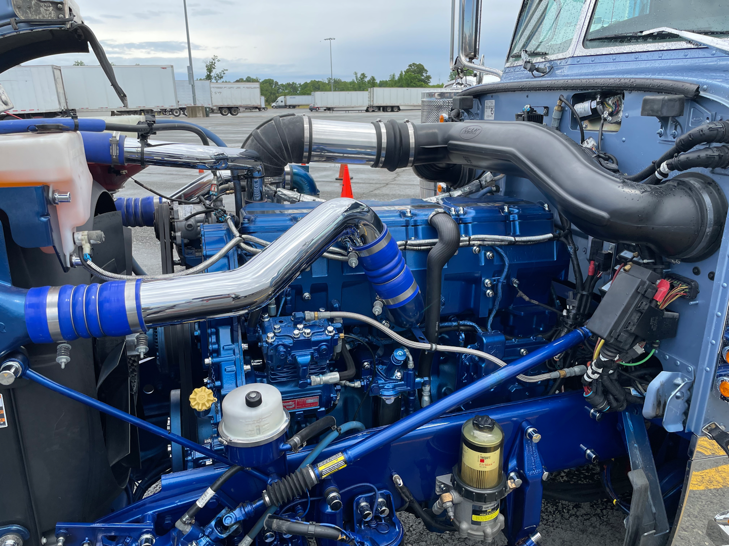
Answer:
<svg viewBox="0 0 729 546"><path fill-rule="evenodd" d="M218 432L236 446L260 446L278 438L289 426L281 391L267 383L252 383L223 398L223 418Z"/></svg>

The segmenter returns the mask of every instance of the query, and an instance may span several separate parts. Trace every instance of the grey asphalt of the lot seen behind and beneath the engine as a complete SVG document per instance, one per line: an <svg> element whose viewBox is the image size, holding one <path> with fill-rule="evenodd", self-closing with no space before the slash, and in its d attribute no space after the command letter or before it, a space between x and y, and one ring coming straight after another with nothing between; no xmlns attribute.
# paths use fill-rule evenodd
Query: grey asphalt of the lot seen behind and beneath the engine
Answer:
<svg viewBox="0 0 729 546"><path fill-rule="evenodd" d="M308 112L303 108L296 110L272 110L263 112L241 112L238 116L220 116L213 114L208 118L196 118L195 122L215 132L230 147L240 147L252 130L265 119L280 114L307 114L321 119L335 119L351 122L373 122L375 119L397 119L404 121L412 119L419 122L419 111L400 111L397 113L365 113L365 112ZM173 118L175 119L175 118ZM184 119L184 118L182 118ZM197 136L190 132L165 132L165 141L182 143L199 143ZM376 199L386 201L418 197L419 181L410 169L398 170L390 173L388 170L372 169L361 165L350 165L352 175L352 191L356 199ZM335 180L339 173L338 165L313 163L310 167L316 184L321 191L321 197L332 199L339 197L341 182ZM136 180L168 195L180 186L192 181L198 176L197 171L185 169L171 169L165 167L147 167ZM149 192L128 181L118 196L143 197ZM233 208L232 199L227 198L226 205ZM139 264L149 273L161 272L159 242L155 238L152 228L133 229L133 253ZM557 472L553 480L584 482L598 479L596 465L582 469ZM406 546L453 546L459 544L476 544L468 539L458 539L451 533L437 534L427 531L421 521L409 513L399 513L405 526ZM554 500L542 502L542 523L539 532L542 534L543 546L620 546L623 544L625 516L607 499L589 502L572 503ZM491 543L494 546L504 546L507 540L504 534Z"/></svg>

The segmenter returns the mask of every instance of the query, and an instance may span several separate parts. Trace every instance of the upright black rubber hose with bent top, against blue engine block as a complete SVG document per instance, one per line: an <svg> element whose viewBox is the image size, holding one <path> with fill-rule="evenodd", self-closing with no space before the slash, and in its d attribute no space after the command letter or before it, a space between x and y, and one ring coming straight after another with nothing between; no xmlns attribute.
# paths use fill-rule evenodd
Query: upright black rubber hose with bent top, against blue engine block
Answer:
<svg viewBox="0 0 729 546"><path fill-rule="evenodd" d="M429 223L438 234L438 242L428 253L426 264L425 290L425 337L431 343L438 343L438 325L440 323L440 294L443 289L443 268L448 260L458 252L461 244L461 232L458 223L451 215L443 212L433 213ZM430 377L434 353L422 352L418 359L418 375Z"/></svg>

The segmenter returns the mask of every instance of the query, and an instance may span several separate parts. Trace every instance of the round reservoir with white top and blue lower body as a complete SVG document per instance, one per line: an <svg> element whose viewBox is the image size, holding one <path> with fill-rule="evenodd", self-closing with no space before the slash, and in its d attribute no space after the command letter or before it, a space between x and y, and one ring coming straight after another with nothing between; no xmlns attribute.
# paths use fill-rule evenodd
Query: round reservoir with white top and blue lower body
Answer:
<svg viewBox="0 0 729 546"><path fill-rule="evenodd" d="M281 456L281 437L289 428L289 412L281 392L266 383L233 389L223 399L220 441L228 459L244 467L260 467Z"/></svg>

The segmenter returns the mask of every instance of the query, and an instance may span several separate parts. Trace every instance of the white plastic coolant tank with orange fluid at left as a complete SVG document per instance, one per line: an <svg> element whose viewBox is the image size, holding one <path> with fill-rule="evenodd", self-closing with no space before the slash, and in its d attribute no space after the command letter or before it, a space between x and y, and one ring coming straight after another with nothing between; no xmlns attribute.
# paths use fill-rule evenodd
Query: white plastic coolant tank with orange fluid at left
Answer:
<svg viewBox="0 0 729 546"><path fill-rule="evenodd" d="M49 207L56 208L63 243L57 250L66 265L74 250L74 231L91 213L92 184L78 132L0 135L0 187L49 186ZM71 194L71 201L52 205L56 192Z"/></svg>

